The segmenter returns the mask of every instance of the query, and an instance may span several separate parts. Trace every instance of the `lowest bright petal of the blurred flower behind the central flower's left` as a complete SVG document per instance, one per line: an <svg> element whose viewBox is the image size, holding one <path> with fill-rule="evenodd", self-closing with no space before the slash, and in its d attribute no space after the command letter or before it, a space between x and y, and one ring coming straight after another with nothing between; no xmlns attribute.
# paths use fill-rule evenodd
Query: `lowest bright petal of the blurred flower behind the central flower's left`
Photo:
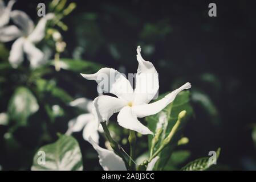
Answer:
<svg viewBox="0 0 256 182"><path fill-rule="evenodd" d="M84 140L89 141L89 138L92 138L97 144L99 144L99 133L96 126L96 121L92 120L87 123L83 130Z"/></svg>

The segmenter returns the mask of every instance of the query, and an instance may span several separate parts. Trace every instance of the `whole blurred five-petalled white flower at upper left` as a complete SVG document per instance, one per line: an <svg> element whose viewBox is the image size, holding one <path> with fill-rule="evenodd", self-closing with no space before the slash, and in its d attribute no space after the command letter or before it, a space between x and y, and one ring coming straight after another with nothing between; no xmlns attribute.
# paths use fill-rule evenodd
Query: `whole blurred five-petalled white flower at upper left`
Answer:
<svg viewBox="0 0 256 182"><path fill-rule="evenodd" d="M0 29L0 42L9 42L17 39L11 46L10 64L17 68L24 59L24 53L26 53L30 61L31 68L36 68L43 64L44 54L35 47L35 44L44 38L47 20L54 18L54 14L50 13L41 18L36 27L30 17L23 11L11 11L10 17L19 28L11 25Z"/></svg>

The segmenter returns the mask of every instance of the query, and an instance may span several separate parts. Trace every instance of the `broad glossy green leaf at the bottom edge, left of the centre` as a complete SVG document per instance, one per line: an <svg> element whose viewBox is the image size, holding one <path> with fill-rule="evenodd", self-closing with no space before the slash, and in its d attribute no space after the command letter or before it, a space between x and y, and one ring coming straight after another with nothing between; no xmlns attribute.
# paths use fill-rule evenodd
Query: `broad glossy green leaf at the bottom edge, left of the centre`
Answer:
<svg viewBox="0 0 256 182"><path fill-rule="evenodd" d="M39 148L31 170L82 171L82 154L78 142L74 137L60 135L55 143Z"/></svg>

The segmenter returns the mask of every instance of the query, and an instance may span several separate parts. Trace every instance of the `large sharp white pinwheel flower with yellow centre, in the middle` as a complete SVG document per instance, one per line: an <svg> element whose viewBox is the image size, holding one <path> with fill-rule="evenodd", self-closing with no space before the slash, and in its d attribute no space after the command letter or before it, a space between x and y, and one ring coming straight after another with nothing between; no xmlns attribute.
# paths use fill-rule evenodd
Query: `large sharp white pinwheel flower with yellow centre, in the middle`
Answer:
<svg viewBox="0 0 256 182"><path fill-rule="evenodd" d="M159 101L148 104L154 98L159 90L159 78L153 64L145 61L141 57L141 48L137 47L137 61L139 67L136 74L136 87L133 90L130 82L118 71L111 68L102 68L92 75L81 74L87 80L95 80L105 93L115 94L112 96L99 96L93 101L93 113L95 114L97 125L100 122L108 121L113 113L119 112L117 122L120 126L137 131L141 134L153 134L146 126L140 123L137 118L146 117L159 113L164 107L174 100L181 90L189 89L190 83L182 85L180 88L167 94ZM115 80L104 79L107 75L115 75ZM150 77L148 78L149 75ZM108 85L108 86L104 86ZM148 86L153 85L153 86Z"/></svg>

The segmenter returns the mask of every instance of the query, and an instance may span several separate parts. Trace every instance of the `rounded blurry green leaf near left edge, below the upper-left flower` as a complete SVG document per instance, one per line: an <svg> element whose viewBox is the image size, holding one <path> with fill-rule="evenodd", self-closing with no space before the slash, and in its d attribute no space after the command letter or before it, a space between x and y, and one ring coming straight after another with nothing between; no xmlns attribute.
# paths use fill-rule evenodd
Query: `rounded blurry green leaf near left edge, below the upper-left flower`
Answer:
<svg viewBox="0 0 256 182"><path fill-rule="evenodd" d="M15 90L8 105L8 115L19 125L26 125L27 118L38 111L39 105L35 96L25 87Z"/></svg>

